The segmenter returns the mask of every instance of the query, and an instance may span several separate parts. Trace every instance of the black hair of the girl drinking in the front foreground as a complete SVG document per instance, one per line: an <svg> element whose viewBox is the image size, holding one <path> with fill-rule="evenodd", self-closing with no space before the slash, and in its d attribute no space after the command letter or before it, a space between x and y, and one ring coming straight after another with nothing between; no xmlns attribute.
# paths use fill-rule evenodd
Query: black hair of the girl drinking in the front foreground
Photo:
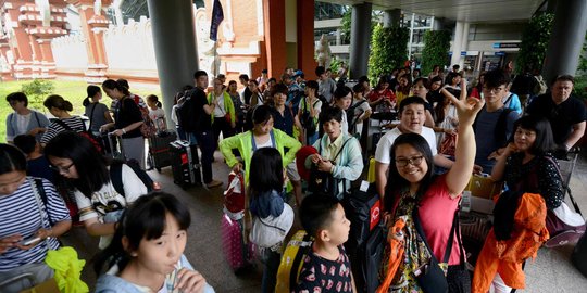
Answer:
<svg viewBox="0 0 587 293"><path fill-rule="evenodd" d="M159 239L163 235L167 226L167 214L175 218L180 230L187 230L191 224L187 206L165 192L139 196L124 213L112 242L93 259L96 275L102 273L114 264L117 264L122 271L132 259L130 253L138 250L141 240ZM123 247L123 237L128 240L127 250Z"/></svg>

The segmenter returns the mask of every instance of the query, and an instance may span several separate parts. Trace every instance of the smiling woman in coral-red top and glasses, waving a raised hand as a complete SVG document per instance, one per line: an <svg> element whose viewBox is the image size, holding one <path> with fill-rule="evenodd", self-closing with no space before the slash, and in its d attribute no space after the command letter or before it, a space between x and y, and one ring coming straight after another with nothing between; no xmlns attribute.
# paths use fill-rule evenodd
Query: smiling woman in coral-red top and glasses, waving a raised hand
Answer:
<svg viewBox="0 0 587 293"><path fill-rule="evenodd" d="M453 217L459 208L461 193L469 183L473 170L475 139L472 124L484 102L475 98L465 100L465 90L460 100L446 90L442 90L442 93L452 100L460 122L455 162L450 170L445 175L434 175L430 148L420 135L401 135L391 148L395 167L389 168L384 215L389 228L400 217L405 219L405 260L399 265L389 292L421 292L423 283L415 277L419 269L428 265L432 257L436 257L438 263L445 260ZM424 235L416 232L414 224L416 217ZM447 273L449 292L469 292L471 285L469 272L461 260L464 256L461 255L459 246L460 237L457 233L452 238L452 247L449 252ZM432 252L423 238L429 243ZM387 276L389 257L390 252L386 250L382 266L383 276ZM447 271L446 267L444 270Z"/></svg>

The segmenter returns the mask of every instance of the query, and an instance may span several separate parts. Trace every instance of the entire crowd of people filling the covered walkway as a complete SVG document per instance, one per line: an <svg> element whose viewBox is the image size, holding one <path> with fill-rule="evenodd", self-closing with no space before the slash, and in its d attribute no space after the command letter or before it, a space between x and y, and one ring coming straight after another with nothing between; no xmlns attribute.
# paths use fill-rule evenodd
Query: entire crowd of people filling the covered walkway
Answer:
<svg viewBox="0 0 587 293"><path fill-rule="evenodd" d="M290 211L298 209L314 243L295 292L357 292L355 264L345 250L351 222L340 202L365 176L370 153L383 220L390 230L400 225L404 234L404 258L397 267L389 265L394 252L384 254L385 291L424 290L415 276L432 257L446 263L449 292L488 289L485 279L470 278L461 235L451 229L472 174L504 181L512 192L540 194L550 237L572 228L560 219L572 212L564 208L558 160L579 141L587 120L584 103L572 94L572 76L555 77L547 92L536 90L539 84L527 71L513 82L500 69L469 82L458 68L445 74L435 66L421 77L405 67L380 76L374 88L365 76L335 80L322 66L315 77L307 80L294 68L278 80L267 71L257 79L242 74L239 91L237 80L197 71L193 85L165 105L173 106L177 137L201 152L204 187L222 187L212 168L220 150L232 171L243 174L254 218L287 218L289 229ZM101 101L102 90L112 99L110 107ZM29 110L22 92L7 101L14 113L7 117L8 143L0 144L0 280L28 271L37 282L51 278L42 260L73 220L100 237L97 292L213 292L183 255L189 211L173 195L149 193L152 187L127 162L102 155L105 145L97 141L104 132L120 137L126 161L148 169L145 137L151 128L167 128L157 95L143 100L124 79L88 86L83 106L89 126L58 94L43 103L51 119ZM370 117L386 113L396 113L397 120L367 150ZM315 178L330 183L320 186ZM285 234L277 242L255 237L263 292L276 285ZM519 286L517 279L501 272L489 280L496 292ZM7 292L24 288L25 282L14 282Z"/></svg>

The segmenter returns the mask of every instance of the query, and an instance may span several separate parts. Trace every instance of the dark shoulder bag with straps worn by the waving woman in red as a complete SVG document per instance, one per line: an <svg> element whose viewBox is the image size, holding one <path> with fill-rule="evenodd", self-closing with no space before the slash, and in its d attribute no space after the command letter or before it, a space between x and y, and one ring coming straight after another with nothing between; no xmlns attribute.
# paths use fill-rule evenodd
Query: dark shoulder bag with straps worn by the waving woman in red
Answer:
<svg viewBox="0 0 587 293"><path fill-rule="evenodd" d="M459 209L460 208L457 208L457 211L454 212L447 249L445 250L445 255L442 256L442 263L448 264L450 253L452 251L452 242L454 240L454 237L457 237L459 242L459 249L461 251L461 266L464 266L464 251L461 239L459 238ZM426 240L426 235L424 234L424 230L422 229L422 224L420 222L417 206L415 206L413 211L413 220L419 237L422 239L424 244L426 244L426 247L430 253L430 258L428 259L428 262L414 271L417 284L420 285L420 288L422 288L422 291L424 292L448 292L449 285L447 277L445 275L445 270L440 268L436 256L434 256L434 251L432 250L428 241Z"/></svg>

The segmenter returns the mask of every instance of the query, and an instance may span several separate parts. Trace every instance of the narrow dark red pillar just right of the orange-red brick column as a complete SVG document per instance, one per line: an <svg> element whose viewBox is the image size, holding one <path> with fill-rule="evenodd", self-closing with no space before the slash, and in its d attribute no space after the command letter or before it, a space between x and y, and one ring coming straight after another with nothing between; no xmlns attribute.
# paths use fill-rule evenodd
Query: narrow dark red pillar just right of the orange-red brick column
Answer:
<svg viewBox="0 0 587 293"><path fill-rule="evenodd" d="M298 22L298 68L301 69L307 77L314 76L313 72L316 68L314 60L314 0L297 1ZM340 40L340 33L337 34L337 41Z"/></svg>

